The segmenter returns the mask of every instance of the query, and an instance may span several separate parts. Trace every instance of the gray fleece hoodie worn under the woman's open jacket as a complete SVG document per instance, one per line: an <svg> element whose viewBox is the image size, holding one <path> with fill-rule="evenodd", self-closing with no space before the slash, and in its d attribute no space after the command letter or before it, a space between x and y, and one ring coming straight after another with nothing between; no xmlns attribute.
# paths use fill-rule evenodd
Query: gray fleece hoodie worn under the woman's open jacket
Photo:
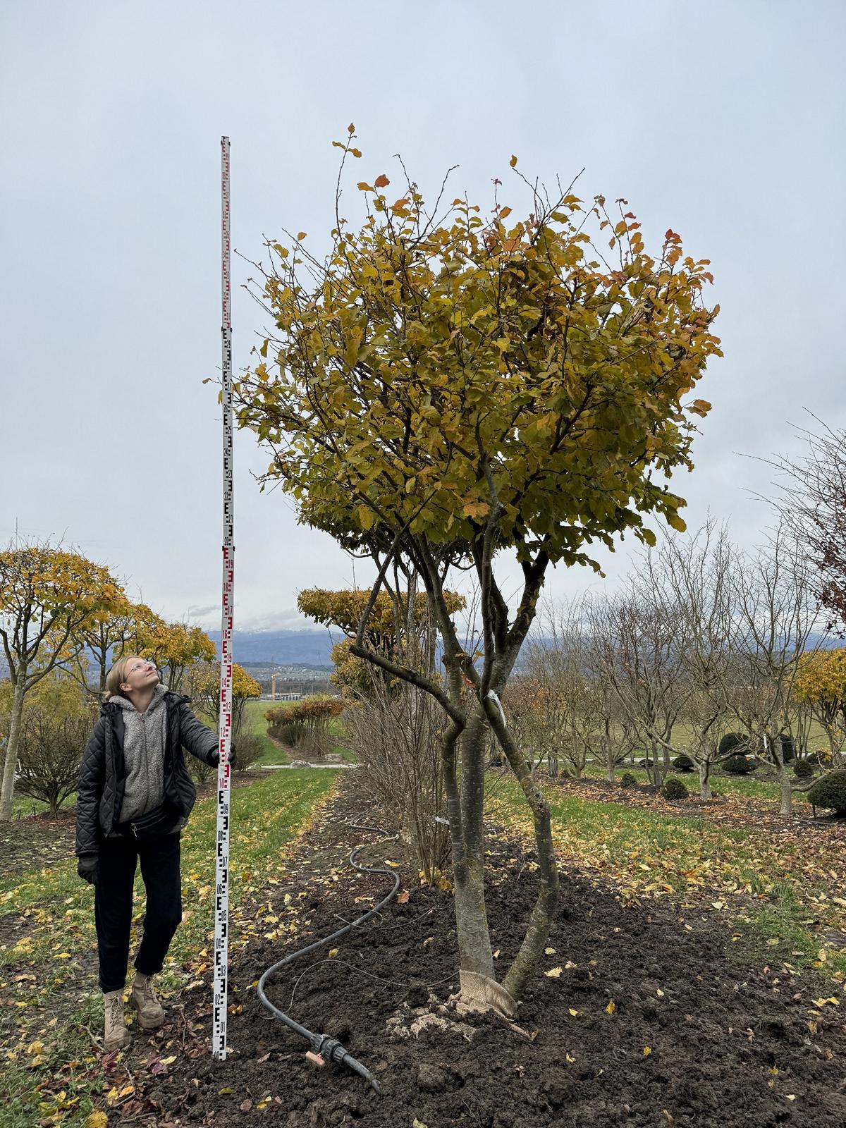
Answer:
<svg viewBox="0 0 846 1128"><path fill-rule="evenodd" d="M109 697L109 702L123 710L126 786L122 822L153 811L165 800L166 693L165 686L156 686L156 695L143 713L139 713L127 697Z"/></svg>

